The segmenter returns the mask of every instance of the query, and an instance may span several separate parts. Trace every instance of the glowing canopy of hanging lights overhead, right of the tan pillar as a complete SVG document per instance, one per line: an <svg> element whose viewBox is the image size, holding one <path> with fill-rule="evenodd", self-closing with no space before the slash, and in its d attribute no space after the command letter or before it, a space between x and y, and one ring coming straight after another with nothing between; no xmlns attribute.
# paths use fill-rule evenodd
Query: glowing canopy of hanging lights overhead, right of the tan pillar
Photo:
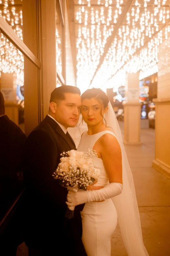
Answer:
<svg viewBox="0 0 170 256"><path fill-rule="evenodd" d="M74 0L77 86L105 90L158 72L159 45L170 36L169 0Z"/></svg>

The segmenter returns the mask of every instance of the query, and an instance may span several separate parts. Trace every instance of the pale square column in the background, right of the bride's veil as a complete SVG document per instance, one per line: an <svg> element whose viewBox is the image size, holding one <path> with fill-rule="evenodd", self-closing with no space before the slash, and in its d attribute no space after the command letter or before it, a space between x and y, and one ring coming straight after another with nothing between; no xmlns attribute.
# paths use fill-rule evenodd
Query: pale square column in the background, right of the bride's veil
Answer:
<svg viewBox="0 0 170 256"><path fill-rule="evenodd" d="M139 72L126 77L124 102L124 143L140 145Z"/></svg>

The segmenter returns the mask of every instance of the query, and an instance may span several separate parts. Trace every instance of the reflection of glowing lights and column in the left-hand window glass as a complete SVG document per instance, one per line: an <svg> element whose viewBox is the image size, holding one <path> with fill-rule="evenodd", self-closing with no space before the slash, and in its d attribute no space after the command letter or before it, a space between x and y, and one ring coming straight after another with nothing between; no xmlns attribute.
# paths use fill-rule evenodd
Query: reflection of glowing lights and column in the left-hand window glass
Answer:
<svg viewBox="0 0 170 256"><path fill-rule="evenodd" d="M0 0L0 16L4 18L18 37L23 40L22 1ZM1 91L5 98L5 105L8 105L8 102L18 105L18 117L14 117L15 120L13 121L21 126L21 129L24 131L23 68L23 54L0 32ZM11 82L11 85L9 84L9 81ZM12 90L13 94L10 93L10 90ZM6 108L8 109L8 107Z"/></svg>

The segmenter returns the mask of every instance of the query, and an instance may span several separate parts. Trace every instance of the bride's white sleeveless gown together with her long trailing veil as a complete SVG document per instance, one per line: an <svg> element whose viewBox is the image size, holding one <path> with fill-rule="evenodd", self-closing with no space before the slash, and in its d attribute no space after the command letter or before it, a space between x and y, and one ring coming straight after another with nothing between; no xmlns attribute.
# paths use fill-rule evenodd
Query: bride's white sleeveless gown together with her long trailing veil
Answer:
<svg viewBox="0 0 170 256"><path fill-rule="evenodd" d="M120 195L107 199L104 202L85 204L81 213L83 244L88 256L110 255L110 237L116 228L118 216L120 231L128 256L149 256L143 244L134 180L123 145L120 127L110 102L108 107L105 117L106 126L112 128L113 133L103 131L94 135L88 135L87 132L84 132L78 146L78 151L87 152L88 148L92 148L95 142L105 133L114 135L121 147L123 190ZM108 178L102 159L95 158L95 165L101 169L100 178L95 186L106 186Z"/></svg>

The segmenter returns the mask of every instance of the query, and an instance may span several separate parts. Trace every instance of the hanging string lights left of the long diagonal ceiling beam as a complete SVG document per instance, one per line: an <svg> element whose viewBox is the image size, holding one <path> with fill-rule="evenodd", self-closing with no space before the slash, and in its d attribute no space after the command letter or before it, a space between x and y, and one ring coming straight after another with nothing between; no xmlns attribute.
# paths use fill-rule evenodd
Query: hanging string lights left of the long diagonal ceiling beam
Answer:
<svg viewBox="0 0 170 256"><path fill-rule="evenodd" d="M104 53L107 39L114 31L114 25L121 14L123 0L117 0L117 7L113 8L112 1L105 1L105 6L98 6L90 9L82 7L76 10L78 26L77 48L77 84L85 81L86 86L90 83L95 69L99 63L100 56ZM88 1L90 2L90 1ZM105 10L107 8L107 11Z"/></svg>

